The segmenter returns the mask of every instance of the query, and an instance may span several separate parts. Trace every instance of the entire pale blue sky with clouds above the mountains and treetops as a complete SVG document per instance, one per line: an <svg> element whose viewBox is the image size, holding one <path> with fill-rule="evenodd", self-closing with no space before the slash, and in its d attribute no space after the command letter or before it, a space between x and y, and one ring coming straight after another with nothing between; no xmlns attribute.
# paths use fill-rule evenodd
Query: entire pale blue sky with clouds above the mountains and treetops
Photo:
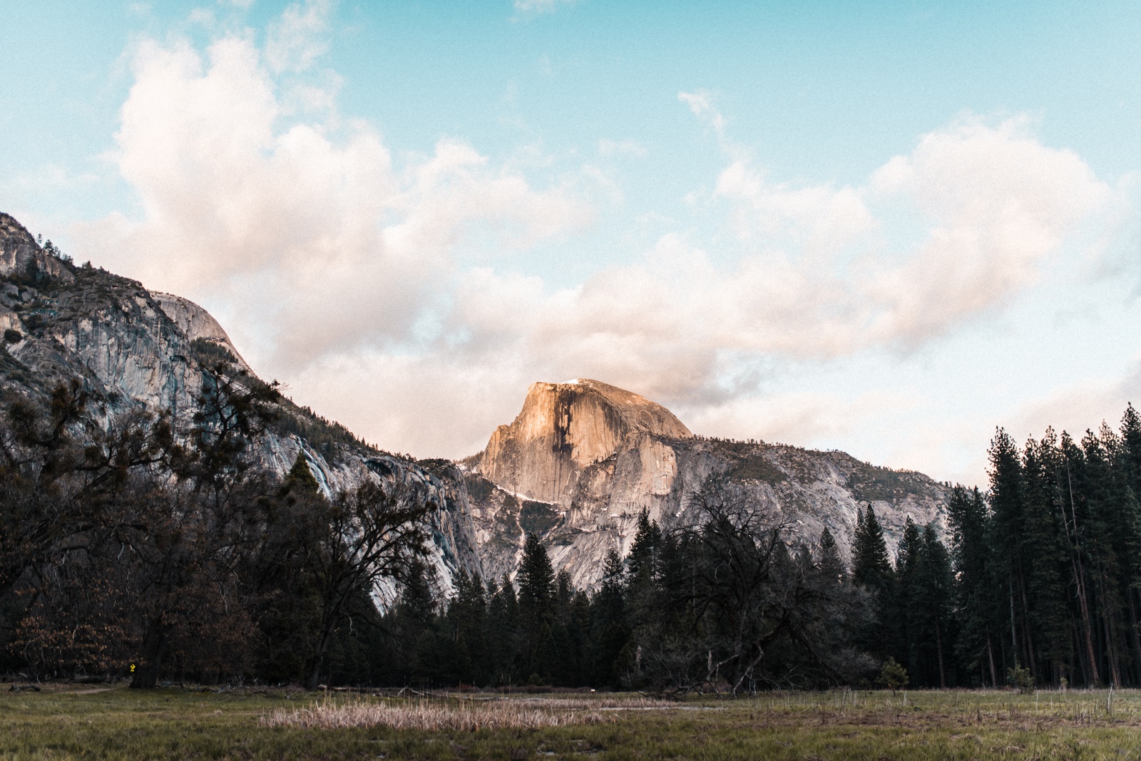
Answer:
<svg viewBox="0 0 1141 761"><path fill-rule="evenodd" d="M385 449L590 377L985 486L1141 403L1135 2L0 14L0 211Z"/></svg>

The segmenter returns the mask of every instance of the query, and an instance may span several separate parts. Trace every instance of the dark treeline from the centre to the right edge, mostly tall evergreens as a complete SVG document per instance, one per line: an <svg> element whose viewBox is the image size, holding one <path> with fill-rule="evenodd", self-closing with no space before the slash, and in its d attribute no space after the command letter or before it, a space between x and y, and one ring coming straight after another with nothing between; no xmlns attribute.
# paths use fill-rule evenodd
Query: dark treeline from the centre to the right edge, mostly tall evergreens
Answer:
<svg viewBox="0 0 1141 761"><path fill-rule="evenodd" d="M408 588L377 640L399 665L378 673L730 692L1141 685L1135 410L1081 442L1047 431L1019 448L1000 429L989 461L989 489L954 486L945 525L908 518L895 556L861 508L850 566L827 532L810 547L728 483L694 496L683 525L642 516L591 595L528 538L518 592L467 576L451 600Z"/></svg>

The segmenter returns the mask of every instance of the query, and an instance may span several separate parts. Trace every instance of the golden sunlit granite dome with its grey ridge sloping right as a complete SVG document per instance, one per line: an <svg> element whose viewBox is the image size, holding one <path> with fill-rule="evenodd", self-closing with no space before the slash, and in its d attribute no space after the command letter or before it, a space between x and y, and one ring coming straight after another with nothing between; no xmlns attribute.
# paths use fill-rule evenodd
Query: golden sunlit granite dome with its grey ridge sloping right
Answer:
<svg viewBox="0 0 1141 761"><path fill-rule="evenodd" d="M766 505L815 541L827 529L844 553L856 510L871 504L895 549L908 516L942 523L948 490L909 470L812 451L694 436L667 409L599 380L536 383L510 425L461 463L487 573L511 573L526 533L548 546L556 570L594 586L610 549L625 554L642 510L685 519L710 477Z"/></svg>

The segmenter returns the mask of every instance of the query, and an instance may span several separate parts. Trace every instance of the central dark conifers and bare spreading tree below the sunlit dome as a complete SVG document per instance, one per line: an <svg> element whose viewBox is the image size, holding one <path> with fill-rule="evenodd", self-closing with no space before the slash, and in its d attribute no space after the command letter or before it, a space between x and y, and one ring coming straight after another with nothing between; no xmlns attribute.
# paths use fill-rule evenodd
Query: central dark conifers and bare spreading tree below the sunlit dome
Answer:
<svg viewBox="0 0 1141 761"><path fill-rule="evenodd" d="M374 678L737 694L874 671L852 647L868 597L847 581L831 534L793 543L725 483L688 512L694 519L665 531L642 514L630 554L610 551L592 594L553 572L534 534L516 582L461 573L446 602L427 579L407 584L382 619Z"/></svg>

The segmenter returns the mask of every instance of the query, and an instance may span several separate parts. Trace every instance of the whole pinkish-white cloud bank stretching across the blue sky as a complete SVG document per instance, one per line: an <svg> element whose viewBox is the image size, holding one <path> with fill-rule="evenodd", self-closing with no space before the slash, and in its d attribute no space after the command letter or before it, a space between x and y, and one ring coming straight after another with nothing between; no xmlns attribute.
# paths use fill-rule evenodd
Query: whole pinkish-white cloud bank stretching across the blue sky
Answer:
<svg viewBox="0 0 1141 761"><path fill-rule="evenodd" d="M496 252L589 224L593 170L536 185L454 139L394 158L311 72L327 10L290 6L260 48L252 34L139 44L114 159L140 212L88 224L76 254L204 302L260 371L394 449L476 451L531 382L565 377L678 406L695 427L827 435L819 420L845 402L756 401L772 363L952 332L1015 298L1116 203L1020 121L936 130L842 187L774 181L727 148L712 199L730 248L669 232L552 288ZM297 116L300 85L322 118ZM725 146L711 96L679 98Z"/></svg>

